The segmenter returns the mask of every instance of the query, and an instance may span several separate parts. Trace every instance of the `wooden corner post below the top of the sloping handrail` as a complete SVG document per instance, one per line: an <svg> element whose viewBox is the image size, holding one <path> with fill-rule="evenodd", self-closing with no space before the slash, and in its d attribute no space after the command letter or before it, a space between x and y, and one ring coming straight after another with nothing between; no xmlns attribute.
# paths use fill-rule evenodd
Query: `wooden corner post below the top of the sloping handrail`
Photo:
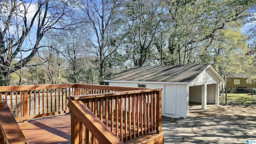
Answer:
<svg viewBox="0 0 256 144"><path fill-rule="evenodd" d="M84 143L84 126L71 112L71 144Z"/></svg>

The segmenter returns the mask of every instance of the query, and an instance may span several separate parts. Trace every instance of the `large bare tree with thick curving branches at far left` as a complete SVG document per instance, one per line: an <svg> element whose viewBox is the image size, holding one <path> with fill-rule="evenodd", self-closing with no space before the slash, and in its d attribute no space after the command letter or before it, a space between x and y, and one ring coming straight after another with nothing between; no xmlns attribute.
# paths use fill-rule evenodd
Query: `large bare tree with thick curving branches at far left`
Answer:
<svg viewBox="0 0 256 144"><path fill-rule="evenodd" d="M0 49L5 52L0 60L1 85L8 85L10 73L25 66L44 47L40 45L44 35L80 22L70 19L73 4L69 0L0 2Z"/></svg>

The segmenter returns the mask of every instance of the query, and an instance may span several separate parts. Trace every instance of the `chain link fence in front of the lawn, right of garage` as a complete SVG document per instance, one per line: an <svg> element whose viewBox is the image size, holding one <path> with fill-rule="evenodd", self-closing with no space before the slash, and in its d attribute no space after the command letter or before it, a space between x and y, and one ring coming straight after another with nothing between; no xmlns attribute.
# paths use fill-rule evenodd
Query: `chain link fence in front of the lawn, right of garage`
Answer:
<svg viewBox="0 0 256 144"><path fill-rule="evenodd" d="M226 88L226 86L223 86L220 90L220 104L256 104L256 88Z"/></svg>

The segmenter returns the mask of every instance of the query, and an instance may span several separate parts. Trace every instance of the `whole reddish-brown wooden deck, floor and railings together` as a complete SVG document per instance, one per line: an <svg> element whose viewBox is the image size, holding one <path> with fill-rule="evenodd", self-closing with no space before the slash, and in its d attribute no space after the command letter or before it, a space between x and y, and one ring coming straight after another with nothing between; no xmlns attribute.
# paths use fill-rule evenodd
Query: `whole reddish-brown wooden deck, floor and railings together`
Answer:
<svg viewBox="0 0 256 144"><path fill-rule="evenodd" d="M161 90L88 84L1 86L5 112L0 112L0 144L112 144L161 134ZM68 112L71 115L45 117ZM23 120L28 121L16 123Z"/></svg>

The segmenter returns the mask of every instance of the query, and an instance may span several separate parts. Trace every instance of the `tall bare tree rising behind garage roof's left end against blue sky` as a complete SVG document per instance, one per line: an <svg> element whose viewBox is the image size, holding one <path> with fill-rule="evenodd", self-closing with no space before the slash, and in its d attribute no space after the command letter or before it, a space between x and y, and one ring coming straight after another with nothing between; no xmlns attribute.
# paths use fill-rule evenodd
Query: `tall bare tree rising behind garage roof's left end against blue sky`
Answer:
<svg viewBox="0 0 256 144"><path fill-rule="evenodd" d="M82 0L80 8L88 16L93 34L90 47L98 58L100 82L104 80L104 61L122 44L122 0Z"/></svg>

